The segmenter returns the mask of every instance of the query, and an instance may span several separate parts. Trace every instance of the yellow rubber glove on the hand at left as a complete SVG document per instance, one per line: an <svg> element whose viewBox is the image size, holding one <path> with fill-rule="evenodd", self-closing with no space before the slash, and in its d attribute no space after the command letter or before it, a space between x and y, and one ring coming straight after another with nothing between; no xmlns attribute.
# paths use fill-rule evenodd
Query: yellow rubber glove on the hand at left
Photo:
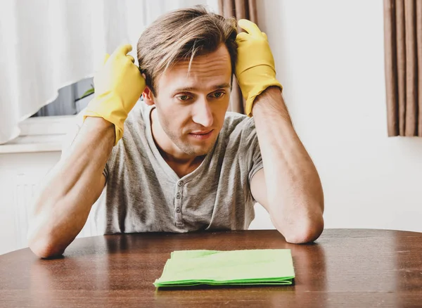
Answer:
<svg viewBox="0 0 422 308"><path fill-rule="evenodd" d="M123 136L124 121L139 100L145 79L127 55L132 46L122 45L111 56L106 54L103 67L94 75L95 94L84 113L87 117L102 117L115 124L115 144Z"/></svg>

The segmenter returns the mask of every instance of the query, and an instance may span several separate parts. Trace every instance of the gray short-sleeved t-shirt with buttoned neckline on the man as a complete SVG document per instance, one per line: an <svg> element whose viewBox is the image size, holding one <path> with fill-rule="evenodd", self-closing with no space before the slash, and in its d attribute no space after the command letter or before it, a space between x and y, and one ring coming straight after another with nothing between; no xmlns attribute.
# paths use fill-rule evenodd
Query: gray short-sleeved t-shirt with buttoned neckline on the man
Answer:
<svg viewBox="0 0 422 308"><path fill-rule="evenodd" d="M104 233L248 229L255 217L250 180L262 168L254 120L226 113L214 148L179 178L153 141L153 108L136 104L104 169Z"/></svg>

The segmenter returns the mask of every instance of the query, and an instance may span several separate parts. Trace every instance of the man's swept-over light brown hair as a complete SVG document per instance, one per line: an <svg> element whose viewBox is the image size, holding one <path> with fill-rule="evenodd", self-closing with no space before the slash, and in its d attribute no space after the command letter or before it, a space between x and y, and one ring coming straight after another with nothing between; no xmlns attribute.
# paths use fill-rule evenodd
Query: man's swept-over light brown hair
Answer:
<svg viewBox="0 0 422 308"><path fill-rule="evenodd" d="M216 51L225 44L234 72L237 58L236 20L207 11L205 6L194 6L172 11L155 20L138 41L138 60L146 85L157 94L155 80L180 60Z"/></svg>

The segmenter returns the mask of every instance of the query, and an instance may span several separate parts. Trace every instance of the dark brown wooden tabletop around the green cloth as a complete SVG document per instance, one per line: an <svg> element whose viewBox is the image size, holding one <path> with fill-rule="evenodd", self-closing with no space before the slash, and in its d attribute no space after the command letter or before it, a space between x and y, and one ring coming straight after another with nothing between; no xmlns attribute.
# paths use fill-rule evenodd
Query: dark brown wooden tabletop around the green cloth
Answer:
<svg viewBox="0 0 422 308"><path fill-rule="evenodd" d="M289 248L295 285L155 290L173 250ZM60 259L0 256L0 307L422 307L422 233L327 229L314 245L277 231L80 238Z"/></svg>

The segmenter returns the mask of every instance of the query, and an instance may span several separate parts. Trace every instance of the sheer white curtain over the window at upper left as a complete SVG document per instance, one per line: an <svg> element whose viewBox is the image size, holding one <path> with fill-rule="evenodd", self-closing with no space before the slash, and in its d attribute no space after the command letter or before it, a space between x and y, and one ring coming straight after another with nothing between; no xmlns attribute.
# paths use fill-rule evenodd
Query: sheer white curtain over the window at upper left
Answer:
<svg viewBox="0 0 422 308"><path fill-rule="evenodd" d="M18 123L54 101L58 89L91 77L103 54L134 47L162 13L218 0L1 0L0 144Z"/></svg>

